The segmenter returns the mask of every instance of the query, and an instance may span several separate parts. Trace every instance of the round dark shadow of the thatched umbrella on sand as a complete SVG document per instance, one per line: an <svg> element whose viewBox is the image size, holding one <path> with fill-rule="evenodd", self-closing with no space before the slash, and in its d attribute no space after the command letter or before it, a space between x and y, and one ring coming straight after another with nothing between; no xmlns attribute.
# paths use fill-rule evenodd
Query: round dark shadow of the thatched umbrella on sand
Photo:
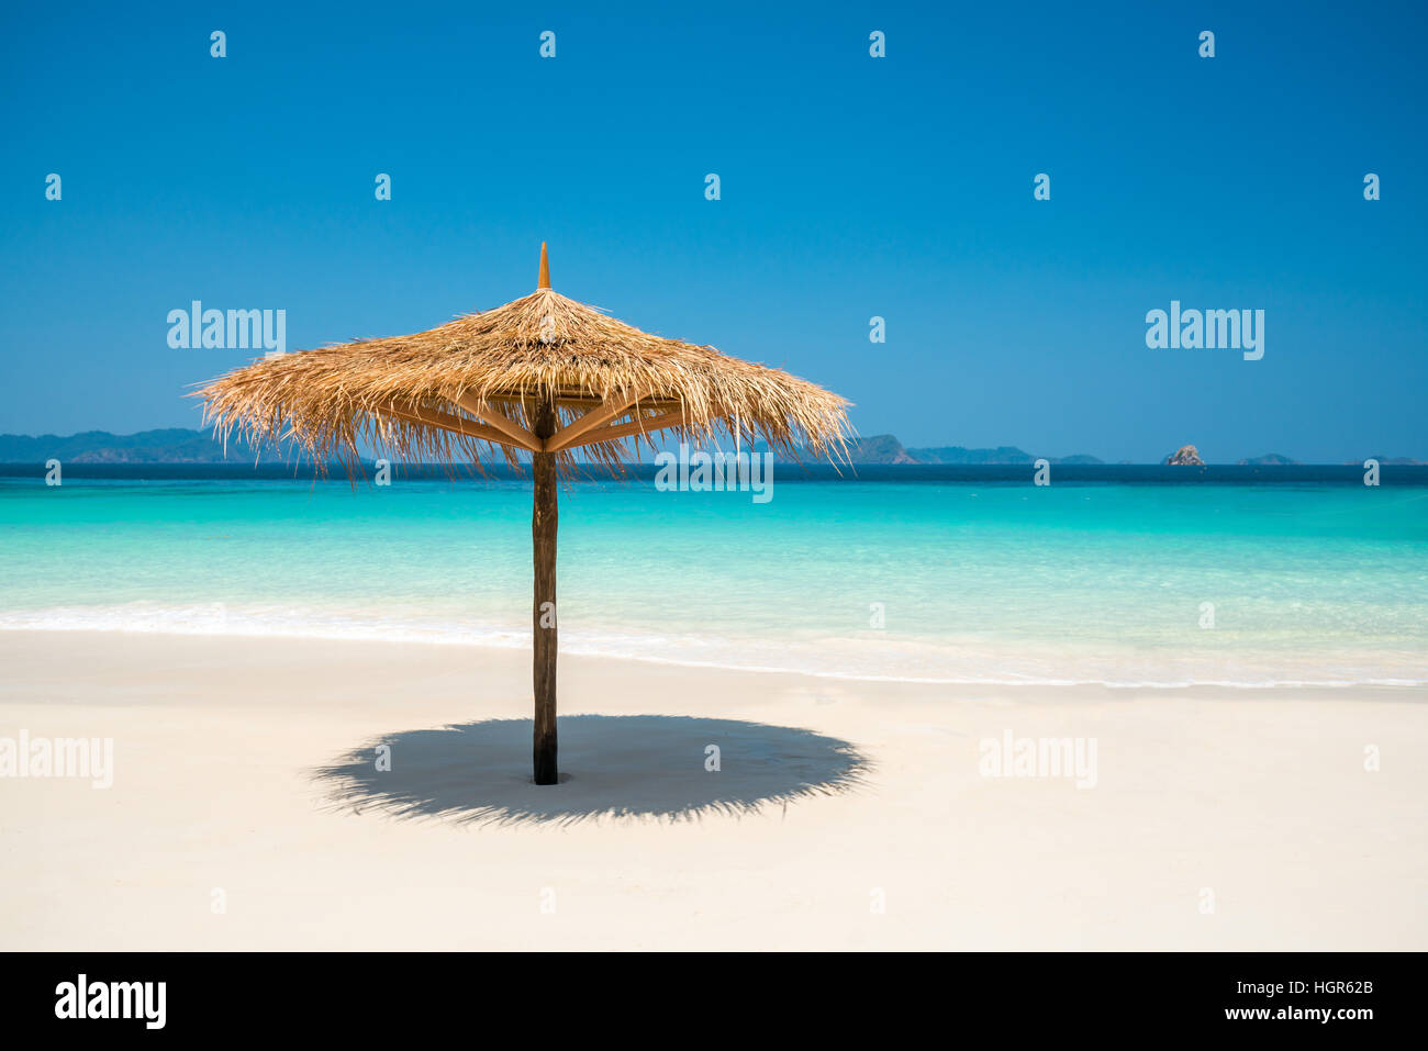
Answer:
<svg viewBox="0 0 1428 1051"><path fill-rule="evenodd" d="M705 768L718 745L718 771ZM380 747L390 770L378 770ZM811 730L724 718L563 715L560 784L537 785L531 720L408 730L314 771L326 805L453 824L575 824L601 817L743 815L865 781L870 761Z"/></svg>

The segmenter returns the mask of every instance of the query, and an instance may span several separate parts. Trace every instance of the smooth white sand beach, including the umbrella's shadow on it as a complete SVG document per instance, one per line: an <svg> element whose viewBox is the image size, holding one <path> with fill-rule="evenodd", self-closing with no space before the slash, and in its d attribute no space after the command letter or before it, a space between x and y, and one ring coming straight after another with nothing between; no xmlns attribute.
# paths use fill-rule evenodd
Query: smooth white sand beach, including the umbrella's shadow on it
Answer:
<svg viewBox="0 0 1428 1051"><path fill-rule="evenodd" d="M114 741L109 788L0 778L4 950L1428 948L1421 690L565 657L538 788L521 650L4 631L0 661L0 738ZM1008 731L1094 740L1094 787L982 775Z"/></svg>

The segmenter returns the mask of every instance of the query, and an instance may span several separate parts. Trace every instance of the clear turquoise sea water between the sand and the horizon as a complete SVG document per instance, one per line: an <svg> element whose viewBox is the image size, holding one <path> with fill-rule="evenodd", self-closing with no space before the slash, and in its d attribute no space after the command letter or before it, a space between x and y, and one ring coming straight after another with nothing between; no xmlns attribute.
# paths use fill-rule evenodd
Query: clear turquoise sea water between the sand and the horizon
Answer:
<svg viewBox="0 0 1428 1051"><path fill-rule="evenodd" d="M0 630L530 643L523 478L100 473L0 477ZM561 491L563 653L948 683L1428 683L1425 471L1369 488L1354 468L1064 468L1035 487L1030 468L780 466L764 504L651 478Z"/></svg>

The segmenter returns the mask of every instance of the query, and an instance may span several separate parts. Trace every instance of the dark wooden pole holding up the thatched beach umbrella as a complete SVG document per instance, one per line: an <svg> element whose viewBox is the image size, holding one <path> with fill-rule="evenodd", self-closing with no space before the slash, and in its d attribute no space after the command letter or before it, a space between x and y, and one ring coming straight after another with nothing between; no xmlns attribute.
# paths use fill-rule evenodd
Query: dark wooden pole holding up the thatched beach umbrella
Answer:
<svg viewBox="0 0 1428 1051"><path fill-rule="evenodd" d="M555 403L541 401L536 408L534 434L548 438L555 433ZM536 685L536 784L555 784L555 454L533 453L536 478L531 541L536 551L534 685Z"/></svg>

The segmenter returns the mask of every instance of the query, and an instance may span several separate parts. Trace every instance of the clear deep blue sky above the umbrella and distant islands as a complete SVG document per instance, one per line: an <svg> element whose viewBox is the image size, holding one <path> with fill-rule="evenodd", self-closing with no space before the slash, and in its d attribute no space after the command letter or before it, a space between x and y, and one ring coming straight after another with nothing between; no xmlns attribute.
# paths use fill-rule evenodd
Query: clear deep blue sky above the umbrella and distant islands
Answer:
<svg viewBox="0 0 1428 1051"><path fill-rule="evenodd" d="M14 7L0 431L197 426L183 391L251 354L170 348L191 300L284 308L293 348L417 331L530 291L548 240L557 290L811 378L908 446L1428 458L1425 24L1417 3ZM1172 298L1262 308L1264 358L1147 348Z"/></svg>

